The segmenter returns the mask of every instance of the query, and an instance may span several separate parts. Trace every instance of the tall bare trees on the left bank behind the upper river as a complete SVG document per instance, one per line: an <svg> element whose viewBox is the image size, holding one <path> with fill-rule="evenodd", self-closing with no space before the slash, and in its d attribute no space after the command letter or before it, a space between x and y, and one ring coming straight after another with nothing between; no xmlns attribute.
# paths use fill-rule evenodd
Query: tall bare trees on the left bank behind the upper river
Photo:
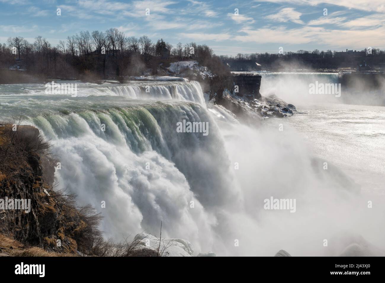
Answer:
<svg viewBox="0 0 385 283"><path fill-rule="evenodd" d="M105 32L81 31L56 46L42 36L35 37L32 43L23 37L10 37L7 43L0 44L0 69L17 64L20 69L45 77L85 74L107 78L139 75L149 68L157 74L162 60L207 61L214 56L206 44L179 42L174 47L163 39L152 42L146 35L127 37L117 28L110 28Z"/></svg>

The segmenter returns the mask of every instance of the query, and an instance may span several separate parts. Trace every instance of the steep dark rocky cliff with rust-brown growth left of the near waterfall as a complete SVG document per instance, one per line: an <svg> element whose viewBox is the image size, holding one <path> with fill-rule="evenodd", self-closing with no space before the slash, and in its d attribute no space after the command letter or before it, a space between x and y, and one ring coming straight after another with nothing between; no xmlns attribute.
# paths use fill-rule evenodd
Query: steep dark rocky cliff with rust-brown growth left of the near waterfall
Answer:
<svg viewBox="0 0 385 283"><path fill-rule="evenodd" d="M0 125L0 233L26 246L76 253L86 248L93 228L89 211L75 208L74 196L53 190L53 166L38 129Z"/></svg>

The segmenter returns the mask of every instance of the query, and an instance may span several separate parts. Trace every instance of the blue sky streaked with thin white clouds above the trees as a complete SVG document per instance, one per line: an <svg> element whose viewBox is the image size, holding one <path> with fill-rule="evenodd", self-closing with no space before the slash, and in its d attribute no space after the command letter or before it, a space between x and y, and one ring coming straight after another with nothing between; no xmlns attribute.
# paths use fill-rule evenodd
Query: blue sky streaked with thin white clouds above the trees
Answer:
<svg viewBox="0 0 385 283"><path fill-rule="evenodd" d="M218 55L385 49L385 0L0 0L0 43L42 35L56 45L81 30L111 27L174 46L206 43Z"/></svg>

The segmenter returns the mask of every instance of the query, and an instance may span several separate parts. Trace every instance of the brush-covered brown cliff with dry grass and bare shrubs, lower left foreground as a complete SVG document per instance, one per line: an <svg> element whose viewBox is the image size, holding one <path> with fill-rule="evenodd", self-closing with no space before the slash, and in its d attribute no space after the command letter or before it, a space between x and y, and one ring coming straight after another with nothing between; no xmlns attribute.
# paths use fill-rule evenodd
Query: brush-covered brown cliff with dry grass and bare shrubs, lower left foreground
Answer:
<svg viewBox="0 0 385 283"><path fill-rule="evenodd" d="M20 123L0 124L0 200L30 200L30 210L9 209L8 201L0 209L0 255L159 256L141 239L104 239L101 214L56 189L50 142Z"/></svg>

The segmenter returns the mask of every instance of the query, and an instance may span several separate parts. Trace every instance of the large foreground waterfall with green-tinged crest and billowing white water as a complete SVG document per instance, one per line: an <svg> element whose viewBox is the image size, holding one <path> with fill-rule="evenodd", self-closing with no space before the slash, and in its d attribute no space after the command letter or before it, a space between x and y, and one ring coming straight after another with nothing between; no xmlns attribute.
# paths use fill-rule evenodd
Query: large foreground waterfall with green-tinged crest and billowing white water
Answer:
<svg viewBox="0 0 385 283"><path fill-rule="evenodd" d="M208 122L209 135L176 132L183 119ZM201 105L152 102L37 116L32 124L51 139L59 157L60 188L102 213L106 236L154 234L163 221L164 235L207 250L213 241L212 208L236 201L223 139Z"/></svg>

